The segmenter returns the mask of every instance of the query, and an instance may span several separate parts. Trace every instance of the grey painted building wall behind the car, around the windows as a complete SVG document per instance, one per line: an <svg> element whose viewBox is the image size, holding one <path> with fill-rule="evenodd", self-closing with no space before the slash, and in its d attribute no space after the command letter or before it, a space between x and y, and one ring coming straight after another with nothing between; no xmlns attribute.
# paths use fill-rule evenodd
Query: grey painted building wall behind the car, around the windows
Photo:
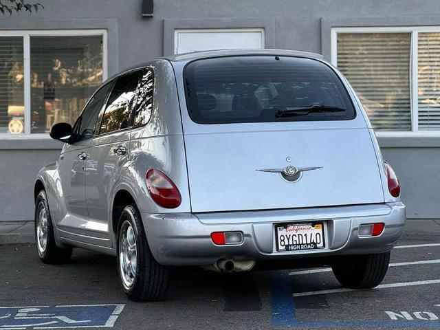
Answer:
<svg viewBox="0 0 440 330"><path fill-rule="evenodd" d="M266 47L320 52L329 59L336 26L440 25L437 0L40 0L45 10L0 17L0 30L87 29L109 32L109 75L173 50L175 28L265 28ZM440 134L381 137L384 158L402 185L408 218L440 218ZM49 139L0 136L0 221L33 217L39 168L57 159Z"/></svg>

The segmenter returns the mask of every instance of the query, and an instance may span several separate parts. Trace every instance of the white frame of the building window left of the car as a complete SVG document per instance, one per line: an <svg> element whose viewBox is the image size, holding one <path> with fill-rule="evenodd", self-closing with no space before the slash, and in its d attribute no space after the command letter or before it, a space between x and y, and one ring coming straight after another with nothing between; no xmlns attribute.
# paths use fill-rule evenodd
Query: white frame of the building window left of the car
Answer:
<svg viewBox="0 0 440 330"><path fill-rule="evenodd" d="M23 93L24 93L24 132L21 134L0 133L0 138L45 138L47 133L31 133L31 68L30 68L30 37L31 36L101 36L102 37L102 82L108 76L108 33L104 29L89 30L0 30L0 36L23 37ZM103 85L102 85L103 86ZM86 104L87 105L87 104ZM82 111L81 111L82 113Z"/></svg>

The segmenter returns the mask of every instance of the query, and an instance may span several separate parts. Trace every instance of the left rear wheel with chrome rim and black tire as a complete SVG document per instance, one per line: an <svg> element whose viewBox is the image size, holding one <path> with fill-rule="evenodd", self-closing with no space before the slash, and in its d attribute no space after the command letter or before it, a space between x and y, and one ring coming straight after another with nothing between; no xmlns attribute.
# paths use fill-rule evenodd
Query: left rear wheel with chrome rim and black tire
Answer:
<svg viewBox="0 0 440 330"><path fill-rule="evenodd" d="M168 287L168 267L157 263L151 254L134 204L120 215L117 247L118 274L126 296L135 301L162 300Z"/></svg>

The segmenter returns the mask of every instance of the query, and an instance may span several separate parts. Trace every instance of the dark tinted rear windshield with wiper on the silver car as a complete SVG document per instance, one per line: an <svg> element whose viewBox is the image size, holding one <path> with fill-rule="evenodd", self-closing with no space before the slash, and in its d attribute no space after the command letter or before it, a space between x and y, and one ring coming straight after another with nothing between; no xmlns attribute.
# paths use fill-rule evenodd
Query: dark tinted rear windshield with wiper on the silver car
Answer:
<svg viewBox="0 0 440 330"><path fill-rule="evenodd" d="M200 124L355 118L336 73L310 58L197 60L186 65L184 84L188 112Z"/></svg>

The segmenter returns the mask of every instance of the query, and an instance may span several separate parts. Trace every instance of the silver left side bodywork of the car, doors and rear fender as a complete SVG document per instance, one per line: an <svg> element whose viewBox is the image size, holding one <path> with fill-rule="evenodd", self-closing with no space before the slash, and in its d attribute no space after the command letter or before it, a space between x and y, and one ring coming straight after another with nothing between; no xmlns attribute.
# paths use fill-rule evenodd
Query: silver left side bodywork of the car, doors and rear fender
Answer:
<svg viewBox="0 0 440 330"><path fill-rule="evenodd" d="M60 162L69 161L66 156L72 151L74 165L69 168L57 162L50 169L40 171L39 179L47 190L50 204L53 204L50 208L58 243L114 255L116 240L111 212L115 195L120 190L129 192L141 211L190 212L185 148L173 67L165 60L148 63L148 66L155 72L155 90L151 120L146 126L98 135L72 145L65 144L64 159ZM157 76L161 78L157 79ZM125 153L118 155L114 152L121 147L126 149ZM80 153L87 154L85 161L78 159ZM145 173L149 168L158 168L173 179L183 199L179 208L168 210L154 203L146 190ZM78 173L77 169L83 177L78 180L78 176L74 176L76 180L69 180L72 173ZM62 176L65 179L61 179ZM50 179L43 179L46 177ZM67 184L61 186L62 181L68 184L72 181L76 184L84 182L82 190L77 190L85 194L80 207L84 213L70 211L72 206L67 203L65 190L71 187ZM82 200L82 197L79 199ZM74 206L79 204L77 200L78 197Z"/></svg>

